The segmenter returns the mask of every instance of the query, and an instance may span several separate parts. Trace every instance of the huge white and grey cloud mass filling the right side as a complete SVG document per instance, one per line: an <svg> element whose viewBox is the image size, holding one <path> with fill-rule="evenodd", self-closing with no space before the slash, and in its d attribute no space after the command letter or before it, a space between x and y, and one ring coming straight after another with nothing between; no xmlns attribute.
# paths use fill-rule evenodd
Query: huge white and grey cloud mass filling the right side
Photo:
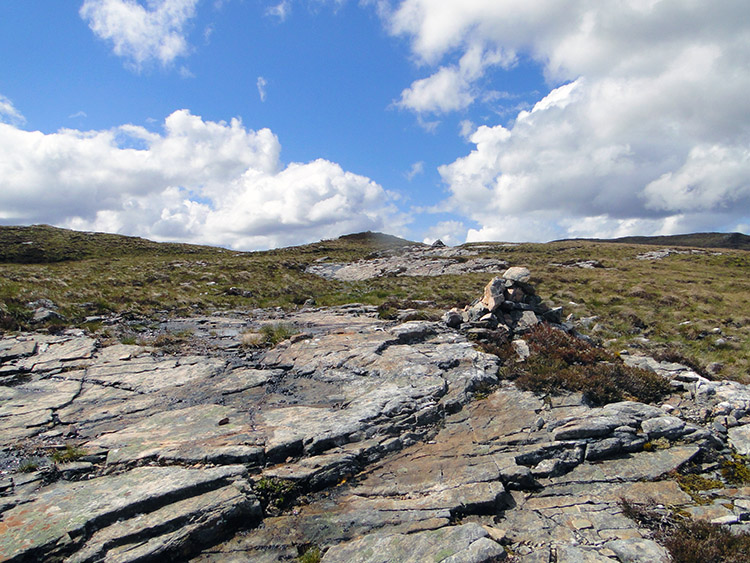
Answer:
<svg viewBox="0 0 750 563"><path fill-rule="evenodd" d="M385 17L437 67L402 96L418 114L474 103L488 52L534 60L550 85L511 122L474 129L474 150L440 168L453 209L481 225L470 239L748 223L746 2L403 0ZM457 54L474 61L463 81L460 63L445 64Z"/></svg>

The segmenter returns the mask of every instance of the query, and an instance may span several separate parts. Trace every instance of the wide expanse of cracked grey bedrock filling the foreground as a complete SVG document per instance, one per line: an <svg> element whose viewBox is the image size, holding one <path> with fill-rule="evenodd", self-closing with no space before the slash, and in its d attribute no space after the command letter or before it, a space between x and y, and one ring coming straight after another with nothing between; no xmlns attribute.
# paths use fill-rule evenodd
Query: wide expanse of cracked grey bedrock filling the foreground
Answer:
<svg viewBox="0 0 750 563"><path fill-rule="evenodd" d="M239 315L170 321L189 354L0 339L0 561L667 561L621 499L747 527L717 463L750 451L744 385L624 355L674 393L590 408L498 381L444 322L283 320L267 351Z"/></svg>

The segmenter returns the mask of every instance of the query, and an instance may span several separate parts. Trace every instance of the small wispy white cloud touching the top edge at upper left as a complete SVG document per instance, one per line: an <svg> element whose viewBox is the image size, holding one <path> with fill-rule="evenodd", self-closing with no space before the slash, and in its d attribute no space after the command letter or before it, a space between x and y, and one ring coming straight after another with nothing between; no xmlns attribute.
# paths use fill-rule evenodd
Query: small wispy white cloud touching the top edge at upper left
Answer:
<svg viewBox="0 0 750 563"><path fill-rule="evenodd" d="M117 56L140 70L158 62L171 64L188 54L186 27L198 0L84 0L79 11L91 31L112 43Z"/></svg>

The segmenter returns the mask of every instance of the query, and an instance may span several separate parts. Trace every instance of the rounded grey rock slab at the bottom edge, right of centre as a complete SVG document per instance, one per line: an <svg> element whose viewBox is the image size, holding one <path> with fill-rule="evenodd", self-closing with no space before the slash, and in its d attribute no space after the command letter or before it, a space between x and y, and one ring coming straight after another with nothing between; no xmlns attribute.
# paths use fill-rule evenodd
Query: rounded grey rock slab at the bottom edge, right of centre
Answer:
<svg viewBox="0 0 750 563"><path fill-rule="evenodd" d="M414 534L370 534L333 546L324 563L489 563L507 557L478 524L450 526Z"/></svg>

